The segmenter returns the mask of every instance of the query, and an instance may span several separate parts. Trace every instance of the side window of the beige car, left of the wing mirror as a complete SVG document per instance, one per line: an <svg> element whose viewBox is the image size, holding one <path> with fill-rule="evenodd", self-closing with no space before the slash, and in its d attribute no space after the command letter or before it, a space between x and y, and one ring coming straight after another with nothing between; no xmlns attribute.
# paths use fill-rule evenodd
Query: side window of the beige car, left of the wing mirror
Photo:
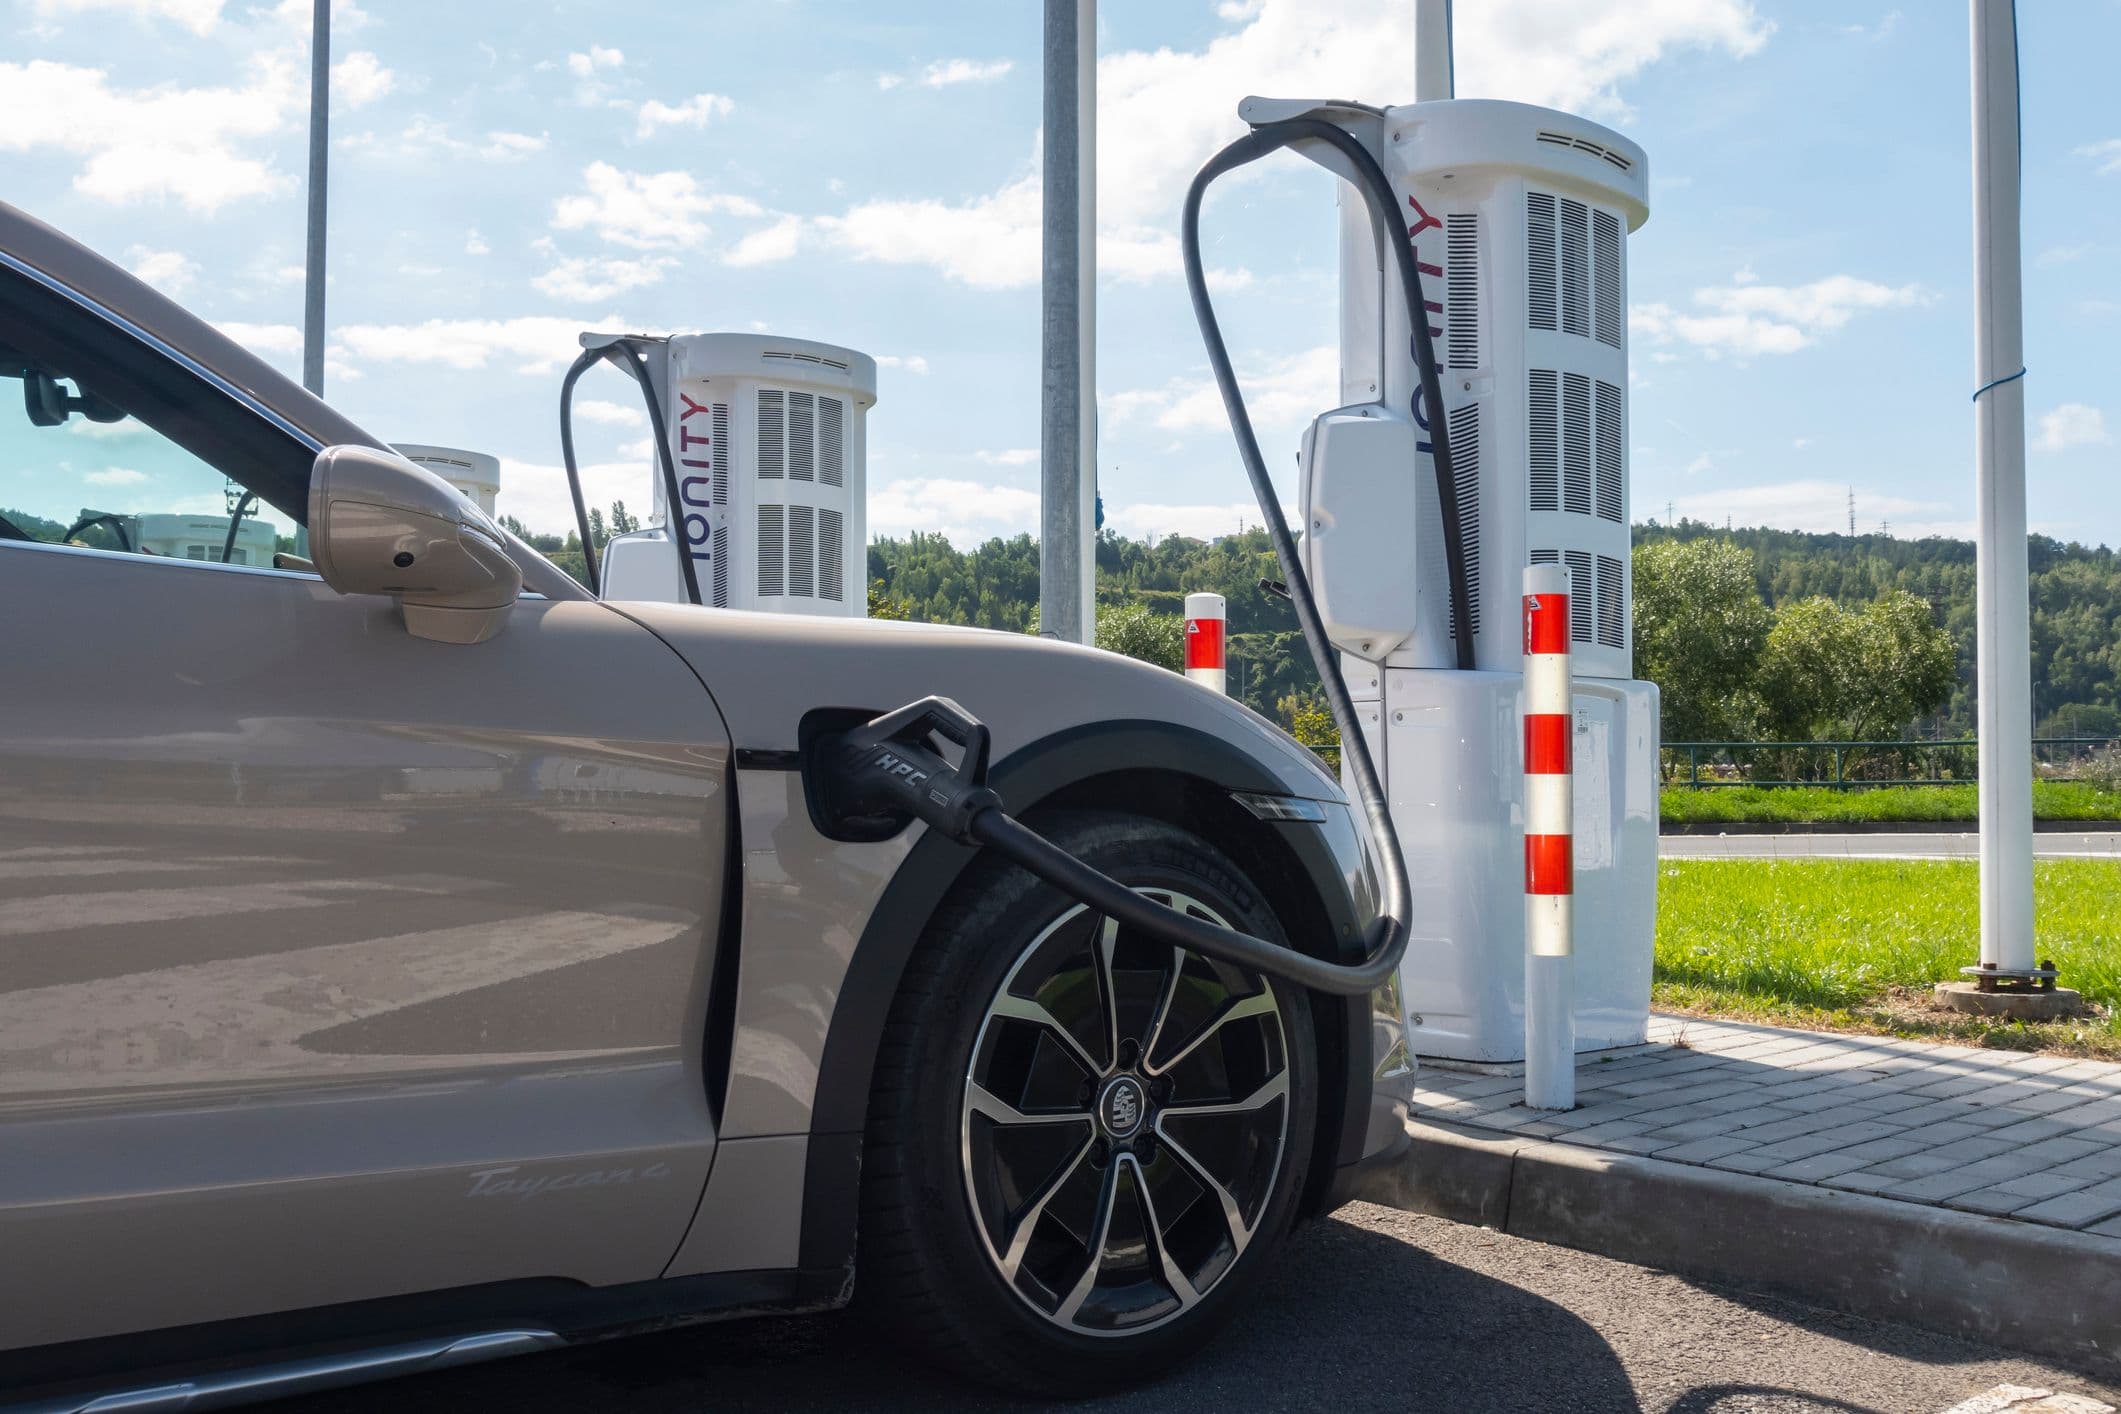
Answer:
<svg viewBox="0 0 2121 1414"><path fill-rule="evenodd" d="M0 343L0 538L261 566L293 530L93 379Z"/></svg>

